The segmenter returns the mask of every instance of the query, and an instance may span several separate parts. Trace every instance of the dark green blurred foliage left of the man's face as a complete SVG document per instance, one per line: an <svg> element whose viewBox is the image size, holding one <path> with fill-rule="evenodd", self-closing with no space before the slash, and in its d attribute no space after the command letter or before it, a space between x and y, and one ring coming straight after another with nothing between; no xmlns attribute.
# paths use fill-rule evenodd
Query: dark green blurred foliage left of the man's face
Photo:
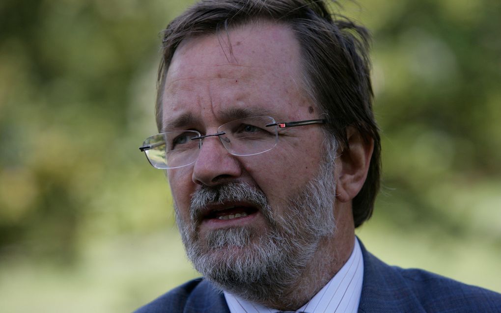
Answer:
<svg viewBox="0 0 501 313"><path fill-rule="evenodd" d="M72 260L79 235L88 236L82 227L99 218L111 232L147 227L127 217L135 208L113 208L125 195L110 186L141 185L136 146L154 131L157 34L176 6L0 5L0 255L14 249ZM141 80L151 87L140 89ZM117 199L103 201L112 190Z"/></svg>

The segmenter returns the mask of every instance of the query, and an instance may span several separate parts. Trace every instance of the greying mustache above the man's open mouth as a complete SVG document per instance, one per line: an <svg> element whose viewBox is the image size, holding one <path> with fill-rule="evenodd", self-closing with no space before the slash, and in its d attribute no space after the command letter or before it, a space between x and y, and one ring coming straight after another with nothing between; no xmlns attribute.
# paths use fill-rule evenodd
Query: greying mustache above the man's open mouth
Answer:
<svg viewBox="0 0 501 313"><path fill-rule="evenodd" d="M257 206L268 219L270 206L263 190L242 182L228 182L217 186L202 186L191 194L190 217L199 220L203 210L214 204L246 202Z"/></svg>

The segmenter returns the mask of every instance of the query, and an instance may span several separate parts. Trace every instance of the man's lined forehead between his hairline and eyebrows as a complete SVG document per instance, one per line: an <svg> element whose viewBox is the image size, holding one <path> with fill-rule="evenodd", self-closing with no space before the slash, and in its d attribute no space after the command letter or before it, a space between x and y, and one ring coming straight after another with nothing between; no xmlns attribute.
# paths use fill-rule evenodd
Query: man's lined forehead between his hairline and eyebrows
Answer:
<svg viewBox="0 0 501 313"><path fill-rule="evenodd" d="M162 97L163 129L202 116L221 120L291 112L306 101L299 44L284 25L250 24L184 40Z"/></svg>

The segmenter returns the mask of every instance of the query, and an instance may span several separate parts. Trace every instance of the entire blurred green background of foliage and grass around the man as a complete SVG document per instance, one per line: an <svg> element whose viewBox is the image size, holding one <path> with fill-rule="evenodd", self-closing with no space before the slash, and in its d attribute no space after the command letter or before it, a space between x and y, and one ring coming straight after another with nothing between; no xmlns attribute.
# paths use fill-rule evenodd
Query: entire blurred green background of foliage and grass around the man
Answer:
<svg viewBox="0 0 501 313"><path fill-rule="evenodd" d="M0 310L131 311L197 273L161 171L159 32L189 3L0 3ZM383 260L501 291L501 2L366 0Z"/></svg>

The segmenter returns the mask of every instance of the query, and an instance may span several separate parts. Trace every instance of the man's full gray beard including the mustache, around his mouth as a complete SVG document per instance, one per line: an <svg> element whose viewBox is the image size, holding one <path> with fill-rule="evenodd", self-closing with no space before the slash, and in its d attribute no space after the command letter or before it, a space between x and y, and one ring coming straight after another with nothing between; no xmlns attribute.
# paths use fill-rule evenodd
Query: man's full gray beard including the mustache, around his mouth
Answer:
<svg viewBox="0 0 501 313"><path fill-rule="evenodd" d="M280 210L268 204L261 189L244 183L203 186L192 195L189 223L176 222L188 258L218 288L248 301L266 302L290 294L298 285L322 238L335 230L334 164L324 161L319 175L288 199ZM267 231L230 227L199 238L196 216L209 204L245 201L265 217ZM278 212L283 212L279 214Z"/></svg>

